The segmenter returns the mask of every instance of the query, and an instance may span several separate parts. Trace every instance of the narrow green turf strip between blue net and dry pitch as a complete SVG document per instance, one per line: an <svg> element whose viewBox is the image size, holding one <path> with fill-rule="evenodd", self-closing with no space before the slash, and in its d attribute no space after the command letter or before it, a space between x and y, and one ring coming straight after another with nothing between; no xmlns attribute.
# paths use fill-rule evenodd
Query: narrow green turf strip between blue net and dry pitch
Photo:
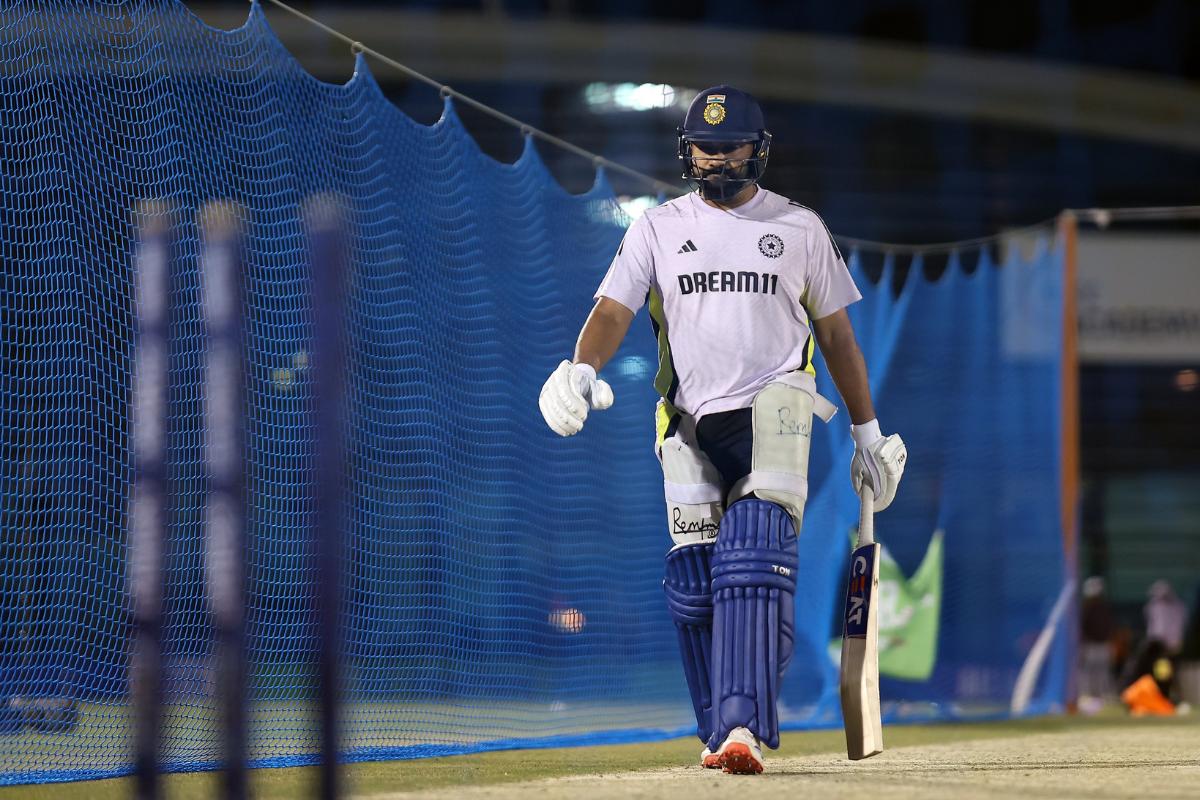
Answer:
<svg viewBox="0 0 1200 800"><path fill-rule="evenodd" d="M1048 716L1003 722L889 726L884 736L887 746L893 748L1121 726L1177 724L1200 724L1200 718L1132 720L1117 711L1097 717ZM346 788L348 795L368 798L373 794L419 789L660 769L695 764L700 757L700 747L696 739L686 738L635 745L509 750L446 758L360 763L347 766ZM774 754L838 753L844 747L841 730L788 732L782 735L780 748ZM316 775L316 768L312 766L256 770L252 775L253 796L262 800L312 796ZM217 781L218 775L215 772L169 775L164 778L166 795L172 800L208 800L217 796ZM125 800L132 796L132 789L131 778L47 783L0 788L0 800Z"/></svg>

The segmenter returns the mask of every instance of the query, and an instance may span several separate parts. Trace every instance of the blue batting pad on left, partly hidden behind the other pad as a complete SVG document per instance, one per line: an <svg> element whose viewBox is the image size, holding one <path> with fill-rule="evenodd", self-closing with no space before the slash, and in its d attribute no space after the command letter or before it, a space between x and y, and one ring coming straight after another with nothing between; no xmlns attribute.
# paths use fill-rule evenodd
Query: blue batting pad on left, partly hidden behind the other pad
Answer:
<svg viewBox="0 0 1200 800"><path fill-rule="evenodd" d="M713 690L709 681L713 654L713 589L709 572L713 545L694 543L667 553L662 589L667 609L679 633L679 655L688 691L696 709L696 734L708 744L713 735Z"/></svg>

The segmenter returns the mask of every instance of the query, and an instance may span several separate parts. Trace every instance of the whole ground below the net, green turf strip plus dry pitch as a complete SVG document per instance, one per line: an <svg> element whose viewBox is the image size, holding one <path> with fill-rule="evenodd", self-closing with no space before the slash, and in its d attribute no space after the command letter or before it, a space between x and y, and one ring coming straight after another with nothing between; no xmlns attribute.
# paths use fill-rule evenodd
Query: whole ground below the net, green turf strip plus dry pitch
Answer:
<svg viewBox="0 0 1200 800"><path fill-rule="evenodd" d="M1200 800L1200 715L1130 720L1034 717L978 724L889 726L888 750L865 762L845 757L840 730L785 733L767 774L722 775L692 766L695 739L451 758L352 764L348 798L373 800L704 800L853 798L854 800ZM686 765L686 766L680 766ZM257 800L313 796L311 768L254 770ZM220 796L214 772L172 775L172 800ZM0 800L125 800L128 778L0 788Z"/></svg>

